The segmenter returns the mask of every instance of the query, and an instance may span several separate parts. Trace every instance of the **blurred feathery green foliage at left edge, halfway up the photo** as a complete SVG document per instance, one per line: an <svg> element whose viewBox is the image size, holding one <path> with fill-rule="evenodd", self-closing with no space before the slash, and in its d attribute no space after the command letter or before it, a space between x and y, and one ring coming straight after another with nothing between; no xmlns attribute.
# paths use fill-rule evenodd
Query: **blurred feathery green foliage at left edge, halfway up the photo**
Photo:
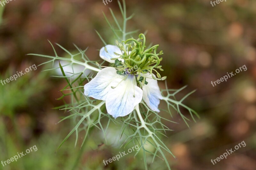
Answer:
<svg viewBox="0 0 256 170"><path fill-rule="evenodd" d="M8 69L0 80L10 78L15 71ZM12 117L15 109L28 105L29 99L32 99L36 94L42 92L47 85L42 85L46 73L35 76L33 71L23 75L17 80L13 80L5 85L0 83L0 114Z"/></svg>

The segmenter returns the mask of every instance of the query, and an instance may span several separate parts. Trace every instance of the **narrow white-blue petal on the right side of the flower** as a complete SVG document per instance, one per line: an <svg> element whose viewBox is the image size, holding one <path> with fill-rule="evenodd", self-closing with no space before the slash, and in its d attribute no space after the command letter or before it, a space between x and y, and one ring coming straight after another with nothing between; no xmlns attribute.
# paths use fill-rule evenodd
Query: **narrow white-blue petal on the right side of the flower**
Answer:
<svg viewBox="0 0 256 170"><path fill-rule="evenodd" d="M149 73L145 74L145 76L150 78L146 78L148 84L142 86L143 100L151 110L160 112L158 110L158 105L160 103L159 99L162 100L163 96L161 95L160 89L157 85L157 80L154 80Z"/></svg>

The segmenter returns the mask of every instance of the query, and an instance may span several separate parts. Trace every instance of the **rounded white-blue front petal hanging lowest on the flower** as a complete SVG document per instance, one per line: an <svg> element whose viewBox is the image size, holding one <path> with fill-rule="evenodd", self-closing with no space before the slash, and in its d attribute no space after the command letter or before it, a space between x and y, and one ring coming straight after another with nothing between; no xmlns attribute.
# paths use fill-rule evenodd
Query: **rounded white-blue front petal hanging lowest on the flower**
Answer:
<svg viewBox="0 0 256 170"><path fill-rule="evenodd" d="M133 77L129 75L126 80L118 78L111 83L111 86L116 88L109 89L106 108L108 114L114 118L128 115L142 100L143 92L140 87L133 84Z"/></svg>

